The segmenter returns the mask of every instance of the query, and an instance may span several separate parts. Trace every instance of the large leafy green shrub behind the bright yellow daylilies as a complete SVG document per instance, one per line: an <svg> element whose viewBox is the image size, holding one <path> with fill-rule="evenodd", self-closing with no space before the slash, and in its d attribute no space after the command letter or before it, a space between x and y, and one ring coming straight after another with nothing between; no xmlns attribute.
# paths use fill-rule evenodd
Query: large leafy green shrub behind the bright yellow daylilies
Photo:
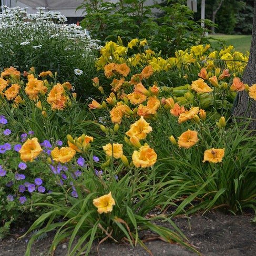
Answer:
<svg viewBox="0 0 256 256"><path fill-rule="evenodd" d="M78 8L86 13L81 25L102 42L120 36L126 45L132 38L147 38L152 49L161 51L163 56L196 42L208 42L205 30L193 21L193 12L180 3L161 6L147 5L145 0L116 3L96 0L84 1Z"/></svg>

